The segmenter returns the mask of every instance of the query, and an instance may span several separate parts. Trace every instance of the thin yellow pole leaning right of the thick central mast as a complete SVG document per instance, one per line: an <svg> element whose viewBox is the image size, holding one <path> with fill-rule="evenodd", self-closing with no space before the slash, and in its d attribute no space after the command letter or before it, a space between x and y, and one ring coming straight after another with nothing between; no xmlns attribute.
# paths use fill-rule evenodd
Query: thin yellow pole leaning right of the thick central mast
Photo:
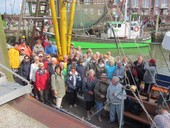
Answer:
<svg viewBox="0 0 170 128"><path fill-rule="evenodd" d="M70 54L70 42L71 42L71 34L72 34L72 28L74 23L75 5L76 5L76 0L72 0L71 10L70 10L70 22L69 22L68 36L67 36L68 54Z"/></svg>

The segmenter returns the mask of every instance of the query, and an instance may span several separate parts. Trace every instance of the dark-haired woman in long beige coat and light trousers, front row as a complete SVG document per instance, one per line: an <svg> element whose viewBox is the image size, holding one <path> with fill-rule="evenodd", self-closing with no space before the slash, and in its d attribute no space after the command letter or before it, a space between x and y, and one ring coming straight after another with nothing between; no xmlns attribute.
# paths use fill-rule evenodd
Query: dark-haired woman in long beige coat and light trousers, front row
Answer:
<svg viewBox="0 0 170 128"><path fill-rule="evenodd" d="M51 87L56 97L56 107L61 108L62 99L65 96L65 81L59 65L55 67L55 73L51 76Z"/></svg>

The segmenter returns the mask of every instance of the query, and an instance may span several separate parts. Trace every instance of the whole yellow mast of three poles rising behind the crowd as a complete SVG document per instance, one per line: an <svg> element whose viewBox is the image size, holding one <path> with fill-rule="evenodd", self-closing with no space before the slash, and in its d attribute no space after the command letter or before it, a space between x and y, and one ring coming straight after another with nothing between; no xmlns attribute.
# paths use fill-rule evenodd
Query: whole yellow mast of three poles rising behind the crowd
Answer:
<svg viewBox="0 0 170 128"><path fill-rule="evenodd" d="M55 38L56 38L60 57L63 57L64 55L70 53L70 42L71 42L72 27L74 22L75 4L76 4L76 0L73 0L71 5L71 10L70 10L70 21L68 27L66 2L65 0L60 0L60 31L59 31L58 21L56 18L57 16L56 16L55 2L54 0L50 0ZM68 36L67 36L67 27L68 27Z"/></svg>

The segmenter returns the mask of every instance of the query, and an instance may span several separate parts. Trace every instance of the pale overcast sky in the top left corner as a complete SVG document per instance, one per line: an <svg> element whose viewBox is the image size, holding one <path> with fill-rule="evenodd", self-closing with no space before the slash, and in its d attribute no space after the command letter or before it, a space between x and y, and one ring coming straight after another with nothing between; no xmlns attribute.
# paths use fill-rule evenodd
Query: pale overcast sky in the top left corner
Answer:
<svg viewBox="0 0 170 128"><path fill-rule="evenodd" d="M20 13L20 5L22 4L22 0L0 0L0 13L7 14L11 13Z"/></svg>

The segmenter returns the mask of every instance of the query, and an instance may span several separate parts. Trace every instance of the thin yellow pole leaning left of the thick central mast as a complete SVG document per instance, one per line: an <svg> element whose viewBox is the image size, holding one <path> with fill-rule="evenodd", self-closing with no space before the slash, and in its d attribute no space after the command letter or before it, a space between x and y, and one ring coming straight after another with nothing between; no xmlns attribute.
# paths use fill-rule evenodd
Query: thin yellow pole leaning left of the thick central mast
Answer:
<svg viewBox="0 0 170 128"><path fill-rule="evenodd" d="M53 19L54 33L55 33L55 39L56 39L56 45L57 45L57 48L58 48L58 53L59 53L59 55L62 55L61 45L60 45L60 35L59 35L59 29L58 29L58 21L57 21L56 8L55 8L54 0L50 0L50 7L51 7L51 14L52 14L52 19Z"/></svg>

